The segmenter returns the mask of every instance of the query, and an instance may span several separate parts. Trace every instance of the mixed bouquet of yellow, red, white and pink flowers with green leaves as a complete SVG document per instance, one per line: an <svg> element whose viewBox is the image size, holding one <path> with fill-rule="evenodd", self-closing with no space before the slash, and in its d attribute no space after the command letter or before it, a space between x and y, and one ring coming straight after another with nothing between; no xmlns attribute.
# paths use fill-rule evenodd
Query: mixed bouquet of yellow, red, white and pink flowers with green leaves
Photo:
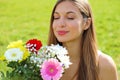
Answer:
<svg viewBox="0 0 120 80"><path fill-rule="evenodd" d="M58 44L42 46L40 40L31 39L11 42L7 48L0 60L11 70L1 72L3 80L59 80L71 64L66 48Z"/></svg>

